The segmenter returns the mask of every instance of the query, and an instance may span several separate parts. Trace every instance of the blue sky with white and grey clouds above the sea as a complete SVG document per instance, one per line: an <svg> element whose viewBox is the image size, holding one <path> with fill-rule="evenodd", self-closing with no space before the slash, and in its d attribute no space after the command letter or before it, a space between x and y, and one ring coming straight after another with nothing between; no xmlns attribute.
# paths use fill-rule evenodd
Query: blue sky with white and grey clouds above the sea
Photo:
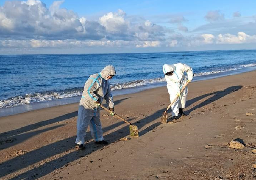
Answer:
<svg viewBox="0 0 256 180"><path fill-rule="evenodd" d="M256 49L255 9L255 0L0 0L0 54Z"/></svg>

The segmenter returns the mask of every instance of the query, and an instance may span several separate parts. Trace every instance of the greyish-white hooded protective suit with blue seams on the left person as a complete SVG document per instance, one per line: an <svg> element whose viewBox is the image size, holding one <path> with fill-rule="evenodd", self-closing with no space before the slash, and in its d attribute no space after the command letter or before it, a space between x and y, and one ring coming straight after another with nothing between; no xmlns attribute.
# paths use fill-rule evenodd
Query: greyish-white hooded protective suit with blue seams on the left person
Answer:
<svg viewBox="0 0 256 180"><path fill-rule="evenodd" d="M77 116L76 144L84 144L88 125L95 141L102 141L102 126L100 122L99 107L96 101L102 103L105 99L109 108L114 108L113 97L107 77L115 75L115 67L108 65L99 74L93 74L86 81L82 98L80 100Z"/></svg>

